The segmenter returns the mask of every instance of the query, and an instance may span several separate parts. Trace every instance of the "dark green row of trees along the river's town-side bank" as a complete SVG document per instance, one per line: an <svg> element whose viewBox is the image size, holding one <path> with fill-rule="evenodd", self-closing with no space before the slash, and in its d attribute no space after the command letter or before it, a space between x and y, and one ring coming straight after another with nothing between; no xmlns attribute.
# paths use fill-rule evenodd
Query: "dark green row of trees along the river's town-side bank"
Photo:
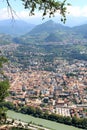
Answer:
<svg viewBox="0 0 87 130"><path fill-rule="evenodd" d="M87 119L86 118L77 118L77 117L71 118L71 117L61 116L61 115L58 115L55 113L49 114L48 111L43 112L40 108L35 108L32 106L19 105L19 106L15 107L10 102L3 102L2 104L0 104L0 107L2 107L2 106L6 107L10 110L14 110L16 112L32 115L34 117L39 117L39 118L55 121L58 123L72 125L72 126L82 128L82 129L87 129Z"/></svg>

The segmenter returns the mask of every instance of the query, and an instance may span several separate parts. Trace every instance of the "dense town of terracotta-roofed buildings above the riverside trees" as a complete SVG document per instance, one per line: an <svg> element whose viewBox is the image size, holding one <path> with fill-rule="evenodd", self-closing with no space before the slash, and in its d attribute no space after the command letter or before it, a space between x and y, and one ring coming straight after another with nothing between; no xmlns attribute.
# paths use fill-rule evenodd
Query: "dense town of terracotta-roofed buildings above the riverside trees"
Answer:
<svg viewBox="0 0 87 130"><path fill-rule="evenodd" d="M4 66L10 81L7 101L63 116L87 117L87 62L55 60L56 72Z"/></svg>

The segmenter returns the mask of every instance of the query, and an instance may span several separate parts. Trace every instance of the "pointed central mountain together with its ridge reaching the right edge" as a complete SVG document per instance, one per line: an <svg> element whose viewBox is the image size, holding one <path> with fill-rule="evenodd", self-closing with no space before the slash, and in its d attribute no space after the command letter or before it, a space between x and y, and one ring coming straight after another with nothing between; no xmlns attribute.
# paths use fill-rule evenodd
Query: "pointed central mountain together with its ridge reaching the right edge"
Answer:
<svg viewBox="0 0 87 130"><path fill-rule="evenodd" d="M14 38L14 41L22 44L29 43L83 43L87 41L87 25L67 27L49 20L35 26L31 31Z"/></svg>

